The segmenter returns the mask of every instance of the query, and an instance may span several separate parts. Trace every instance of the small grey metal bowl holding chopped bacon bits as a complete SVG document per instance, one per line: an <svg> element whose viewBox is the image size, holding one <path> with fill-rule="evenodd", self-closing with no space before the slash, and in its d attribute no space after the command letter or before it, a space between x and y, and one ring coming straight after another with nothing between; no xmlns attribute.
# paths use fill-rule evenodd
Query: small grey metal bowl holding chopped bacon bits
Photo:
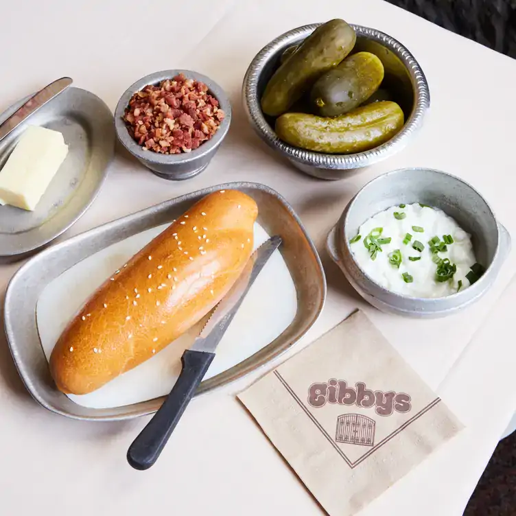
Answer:
<svg viewBox="0 0 516 516"><path fill-rule="evenodd" d="M137 91L141 91L148 84L159 84L162 80L172 79L174 75L183 73L185 77L204 82L208 86L208 92L215 97L220 104L220 108L224 110L226 117L222 120L218 130L208 141L204 141L200 146L191 152L182 152L181 154L159 154L152 150L143 150L141 145L129 134L128 128L124 121L124 114L129 101ZM215 152L217 152L220 143L226 136L231 123L231 104L224 93L224 90L213 82L206 75L191 70L164 70L146 75L144 78L135 82L130 86L124 95L118 101L115 110L115 128L117 136L122 145L145 167L161 178L170 180L189 179L200 174L209 164Z"/></svg>

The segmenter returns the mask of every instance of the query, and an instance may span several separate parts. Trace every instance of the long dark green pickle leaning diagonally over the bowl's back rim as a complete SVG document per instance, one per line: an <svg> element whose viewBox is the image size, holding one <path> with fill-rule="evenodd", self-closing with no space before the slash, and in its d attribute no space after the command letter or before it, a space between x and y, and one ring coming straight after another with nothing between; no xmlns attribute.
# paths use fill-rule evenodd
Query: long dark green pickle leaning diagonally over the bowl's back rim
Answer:
<svg viewBox="0 0 516 516"><path fill-rule="evenodd" d="M355 46L356 34L344 20L330 20L312 32L270 78L261 97L266 115L282 115L309 91L321 73L336 67Z"/></svg>

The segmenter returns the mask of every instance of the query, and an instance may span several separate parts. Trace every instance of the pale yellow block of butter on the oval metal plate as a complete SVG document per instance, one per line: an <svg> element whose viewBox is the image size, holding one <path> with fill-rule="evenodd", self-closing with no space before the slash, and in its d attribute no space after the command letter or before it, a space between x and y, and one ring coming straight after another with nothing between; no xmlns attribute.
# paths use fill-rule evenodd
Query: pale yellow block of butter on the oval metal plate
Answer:
<svg viewBox="0 0 516 516"><path fill-rule="evenodd" d="M60 132L29 126L0 169L0 204L34 211L67 154Z"/></svg>

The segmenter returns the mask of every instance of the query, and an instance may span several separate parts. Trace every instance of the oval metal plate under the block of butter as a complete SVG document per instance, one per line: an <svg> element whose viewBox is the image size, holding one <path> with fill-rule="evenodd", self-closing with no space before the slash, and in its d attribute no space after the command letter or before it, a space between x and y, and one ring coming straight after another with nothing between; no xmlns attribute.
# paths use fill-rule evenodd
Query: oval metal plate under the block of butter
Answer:
<svg viewBox="0 0 516 516"><path fill-rule="evenodd" d="M0 124L29 97L0 115ZM36 211L0 206L0 259L21 259L66 231L88 209L115 151L115 124L93 93L68 88L28 117L0 143L0 169L27 126L62 132L69 152Z"/></svg>

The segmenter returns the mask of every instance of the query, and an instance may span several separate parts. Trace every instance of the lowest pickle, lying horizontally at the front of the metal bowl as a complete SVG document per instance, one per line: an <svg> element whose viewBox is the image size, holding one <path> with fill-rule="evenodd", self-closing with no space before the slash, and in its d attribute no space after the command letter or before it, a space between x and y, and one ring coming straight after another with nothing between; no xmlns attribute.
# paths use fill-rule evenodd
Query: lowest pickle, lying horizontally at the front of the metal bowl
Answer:
<svg viewBox="0 0 516 516"><path fill-rule="evenodd" d="M403 127L403 111L395 102L375 102L340 117L285 113L276 120L278 137L306 150L352 154L391 139Z"/></svg>

